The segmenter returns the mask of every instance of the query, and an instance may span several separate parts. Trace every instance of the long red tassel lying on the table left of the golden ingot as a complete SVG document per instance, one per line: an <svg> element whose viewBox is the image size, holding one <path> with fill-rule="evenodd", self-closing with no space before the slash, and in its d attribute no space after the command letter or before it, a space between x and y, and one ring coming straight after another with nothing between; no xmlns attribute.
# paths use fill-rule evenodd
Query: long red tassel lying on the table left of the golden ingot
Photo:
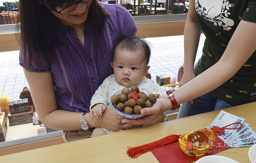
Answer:
<svg viewBox="0 0 256 163"><path fill-rule="evenodd" d="M163 139L157 140L155 142L152 143L148 143L148 144L144 144L144 145L140 145L140 146L128 146L128 149L126 154L128 154L128 156L130 156L131 158L137 158L142 154L145 154L151 150L157 149L160 146L164 146L166 144L170 144L173 142L176 142L179 140L181 135L168 135L165 136Z"/></svg>

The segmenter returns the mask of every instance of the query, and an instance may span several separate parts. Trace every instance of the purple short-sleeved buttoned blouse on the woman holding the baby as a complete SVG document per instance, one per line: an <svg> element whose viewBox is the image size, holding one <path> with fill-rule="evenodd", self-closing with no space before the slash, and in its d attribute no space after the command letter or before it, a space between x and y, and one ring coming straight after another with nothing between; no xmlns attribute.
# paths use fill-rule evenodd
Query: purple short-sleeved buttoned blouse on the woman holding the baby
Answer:
<svg viewBox="0 0 256 163"><path fill-rule="evenodd" d="M96 48L93 29L84 32L84 46L76 37L75 29L62 26L58 35L62 41L53 57L51 74L58 109L72 112L89 112L92 95L103 80L113 74L112 45L119 35L135 34L137 28L131 14L121 5L104 4L110 13L103 34L99 35L100 49ZM20 50L20 65L24 67L24 51ZM41 64L32 60L30 72L47 72Z"/></svg>

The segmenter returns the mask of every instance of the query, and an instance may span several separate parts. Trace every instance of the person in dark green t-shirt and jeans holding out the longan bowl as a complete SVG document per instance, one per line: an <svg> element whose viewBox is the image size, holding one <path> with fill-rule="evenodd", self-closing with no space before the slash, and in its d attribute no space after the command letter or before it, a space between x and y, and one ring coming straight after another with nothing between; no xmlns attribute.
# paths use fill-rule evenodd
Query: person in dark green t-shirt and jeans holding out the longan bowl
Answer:
<svg viewBox="0 0 256 163"><path fill-rule="evenodd" d="M206 36L194 68L201 31ZM190 0L184 29L184 75L173 92L182 104L177 118L256 102L256 0ZM159 99L148 115L123 123L150 123L173 108Z"/></svg>

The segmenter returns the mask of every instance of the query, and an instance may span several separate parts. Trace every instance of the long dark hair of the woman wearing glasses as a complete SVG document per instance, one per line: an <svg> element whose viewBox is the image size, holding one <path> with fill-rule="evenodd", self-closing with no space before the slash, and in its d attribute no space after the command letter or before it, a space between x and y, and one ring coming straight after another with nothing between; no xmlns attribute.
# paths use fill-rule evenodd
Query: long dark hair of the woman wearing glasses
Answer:
<svg viewBox="0 0 256 163"><path fill-rule="evenodd" d="M47 70L50 70L47 61L55 54L54 50L60 44L57 37L59 20L44 4L38 3L39 1L19 0L18 20L20 24L17 29L20 29L20 34L18 41L22 44L24 55L28 52L28 56L24 56L25 68L30 69L33 55ZM49 0L48 4L53 9L75 2L77 0ZM97 44L98 35L104 28L107 17L109 13L99 4L98 0L92 0L87 20L93 24Z"/></svg>

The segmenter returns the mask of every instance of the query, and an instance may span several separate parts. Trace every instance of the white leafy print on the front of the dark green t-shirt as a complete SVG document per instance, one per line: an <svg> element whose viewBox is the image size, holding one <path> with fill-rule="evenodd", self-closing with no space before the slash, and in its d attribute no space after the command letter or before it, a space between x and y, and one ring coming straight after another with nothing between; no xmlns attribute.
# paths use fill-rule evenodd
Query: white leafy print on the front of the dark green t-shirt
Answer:
<svg viewBox="0 0 256 163"><path fill-rule="evenodd" d="M232 5L227 0L195 0L195 9L200 16L227 31L234 25L234 21L228 18L229 7Z"/></svg>

